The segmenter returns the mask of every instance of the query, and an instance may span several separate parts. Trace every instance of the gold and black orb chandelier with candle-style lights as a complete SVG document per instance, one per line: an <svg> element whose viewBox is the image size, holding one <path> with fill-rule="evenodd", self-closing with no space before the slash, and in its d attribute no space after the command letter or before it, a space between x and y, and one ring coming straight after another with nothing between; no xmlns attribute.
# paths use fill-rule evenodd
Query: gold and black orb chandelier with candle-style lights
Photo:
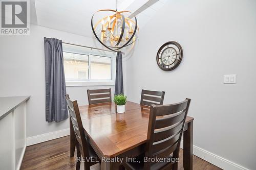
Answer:
<svg viewBox="0 0 256 170"><path fill-rule="evenodd" d="M98 20L93 25L96 14L98 14ZM138 38L139 28L136 16L130 11L118 12L117 2L116 10L104 9L95 12L91 19L91 26L96 39L103 46L115 52L125 46L134 45Z"/></svg>

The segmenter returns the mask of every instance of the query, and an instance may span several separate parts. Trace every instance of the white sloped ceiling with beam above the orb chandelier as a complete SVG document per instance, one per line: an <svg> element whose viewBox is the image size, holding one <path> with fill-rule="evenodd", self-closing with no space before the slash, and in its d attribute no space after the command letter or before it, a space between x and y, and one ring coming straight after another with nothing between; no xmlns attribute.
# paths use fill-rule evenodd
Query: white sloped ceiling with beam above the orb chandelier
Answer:
<svg viewBox="0 0 256 170"><path fill-rule="evenodd" d="M94 37L91 17L99 9L115 9L115 0L34 0L31 4L31 23L77 35ZM141 29L167 0L118 0L117 10L129 10L138 19Z"/></svg>

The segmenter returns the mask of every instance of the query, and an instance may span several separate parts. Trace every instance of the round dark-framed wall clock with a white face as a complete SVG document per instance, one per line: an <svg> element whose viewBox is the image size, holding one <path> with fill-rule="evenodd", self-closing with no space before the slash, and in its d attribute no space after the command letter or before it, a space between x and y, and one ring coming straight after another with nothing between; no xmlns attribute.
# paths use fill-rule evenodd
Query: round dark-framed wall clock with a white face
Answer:
<svg viewBox="0 0 256 170"><path fill-rule="evenodd" d="M178 42L166 42L157 52L157 65L164 71L173 70L180 64L182 56L182 47Z"/></svg>

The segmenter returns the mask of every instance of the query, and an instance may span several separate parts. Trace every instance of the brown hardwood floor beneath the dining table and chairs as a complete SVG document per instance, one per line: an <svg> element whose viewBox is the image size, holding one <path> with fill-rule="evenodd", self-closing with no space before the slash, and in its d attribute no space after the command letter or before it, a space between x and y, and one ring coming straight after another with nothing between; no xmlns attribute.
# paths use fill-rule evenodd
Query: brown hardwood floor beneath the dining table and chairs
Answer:
<svg viewBox="0 0 256 170"><path fill-rule="evenodd" d="M38 143L27 147L25 156L20 169L63 169L74 170L76 167L76 158L70 158L69 136ZM76 153L75 153L76 155ZM183 169L183 151L180 152L179 170ZM221 170L221 168L204 161L203 159L193 156L194 170ZM81 163L80 169L83 169ZM100 169L99 164L91 166L92 170Z"/></svg>

